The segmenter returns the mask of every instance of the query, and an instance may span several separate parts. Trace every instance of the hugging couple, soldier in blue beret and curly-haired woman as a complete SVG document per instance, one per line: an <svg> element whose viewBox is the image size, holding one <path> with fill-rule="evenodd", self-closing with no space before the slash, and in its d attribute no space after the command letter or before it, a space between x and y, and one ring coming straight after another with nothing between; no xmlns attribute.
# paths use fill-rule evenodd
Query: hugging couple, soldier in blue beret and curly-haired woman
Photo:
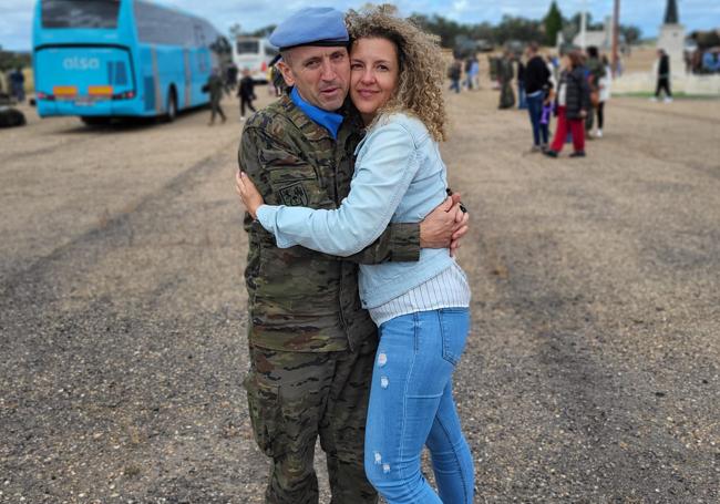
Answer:
<svg viewBox="0 0 720 504"><path fill-rule="evenodd" d="M272 461L266 502L318 502L319 436L335 504L378 493L471 504L452 395L470 328L452 253L467 214L438 147L440 48L383 8L304 9L270 42L288 93L248 120L236 176L249 235L244 385ZM425 445L438 493L421 473Z"/></svg>

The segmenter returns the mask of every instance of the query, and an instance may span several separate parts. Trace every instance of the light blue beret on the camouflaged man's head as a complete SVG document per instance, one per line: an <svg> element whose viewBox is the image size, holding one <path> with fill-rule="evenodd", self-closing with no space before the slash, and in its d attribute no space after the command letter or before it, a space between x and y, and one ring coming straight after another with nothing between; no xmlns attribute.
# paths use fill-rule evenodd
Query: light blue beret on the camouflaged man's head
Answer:
<svg viewBox="0 0 720 504"><path fill-rule="evenodd" d="M272 31L270 43L280 49L297 45L347 45L344 16L331 7L301 9Z"/></svg>

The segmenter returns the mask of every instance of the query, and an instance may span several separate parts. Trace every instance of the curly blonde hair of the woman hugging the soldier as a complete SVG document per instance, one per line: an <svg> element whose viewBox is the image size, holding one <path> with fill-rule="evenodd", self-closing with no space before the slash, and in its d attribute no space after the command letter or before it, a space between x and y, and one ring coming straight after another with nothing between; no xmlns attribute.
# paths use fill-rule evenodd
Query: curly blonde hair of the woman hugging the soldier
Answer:
<svg viewBox="0 0 720 504"><path fill-rule="evenodd" d="M422 121L435 141L445 140L448 115L440 39L425 33L410 20L393 16L387 6L363 9L362 12L350 10L346 14L346 24L351 48L358 39L385 39L398 51L398 89L378 111L376 121L381 114L404 112Z"/></svg>

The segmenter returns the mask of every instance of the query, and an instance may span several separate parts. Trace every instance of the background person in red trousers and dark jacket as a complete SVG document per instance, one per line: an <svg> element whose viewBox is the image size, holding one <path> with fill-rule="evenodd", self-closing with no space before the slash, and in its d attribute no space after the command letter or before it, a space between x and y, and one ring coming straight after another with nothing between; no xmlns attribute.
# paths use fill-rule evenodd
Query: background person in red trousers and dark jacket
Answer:
<svg viewBox="0 0 720 504"><path fill-rule="evenodd" d="M557 157L563 150L568 130L573 133L575 152L570 157L585 157L585 117L590 111L590 90L583 66L583 55L572 51L563 58L563 73L558 85L557 128L551 148L544 152L549 157Z"/></svg>

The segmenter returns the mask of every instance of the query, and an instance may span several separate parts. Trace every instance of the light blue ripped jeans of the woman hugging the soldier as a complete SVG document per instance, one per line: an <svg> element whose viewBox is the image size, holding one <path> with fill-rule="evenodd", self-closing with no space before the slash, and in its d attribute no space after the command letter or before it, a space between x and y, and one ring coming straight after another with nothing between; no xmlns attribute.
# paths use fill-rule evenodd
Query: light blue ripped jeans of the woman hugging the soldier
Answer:
<svg viewBox="0 0 720 504"><path fill-rule="evenodd" d="M473 502L473 459L452 397L469 329L467 308L404 315L380 326L364 466L389 504ZM423 445L440 496L420 471Z"/></svg>

